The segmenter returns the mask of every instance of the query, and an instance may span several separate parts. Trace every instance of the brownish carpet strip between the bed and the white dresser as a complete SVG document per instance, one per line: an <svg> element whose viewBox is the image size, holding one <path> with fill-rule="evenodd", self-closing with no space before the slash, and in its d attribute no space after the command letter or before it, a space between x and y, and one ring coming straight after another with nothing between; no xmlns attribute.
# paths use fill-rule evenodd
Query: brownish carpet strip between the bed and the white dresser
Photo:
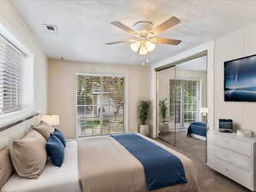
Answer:
<svg viewBox="0 0 256 192"><path fill-rule="evenodd" d="M201 191L202 192L249 192L249 189L242 187L240 184L237 184L230 180L227 177L214 172L201 160L197 159L193 154L187 153L182 149L172 147L172 145L163 142L160 139L156 139L160 143L166 144L170 148L174 148L181 154L185 154L189 157L195 164L197 171L199 172ZM193 191L191 191L193 192Z"/></svg>

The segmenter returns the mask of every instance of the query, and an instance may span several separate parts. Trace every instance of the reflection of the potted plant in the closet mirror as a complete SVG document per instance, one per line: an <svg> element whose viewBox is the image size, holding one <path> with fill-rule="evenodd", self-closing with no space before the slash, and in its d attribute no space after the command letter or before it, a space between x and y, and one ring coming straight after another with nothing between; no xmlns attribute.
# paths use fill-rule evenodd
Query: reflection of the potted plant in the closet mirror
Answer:
<svg viewBox="0 0 256 192"><path fill-rule="evenodd" d="M163 99L159 101L159 112L160 112L160 117L161 117L161 122L159 126L159 131L160 132L168 132L169 131L169 125L166 122L166 113L167 113L167 105L166 105L166 100Z"/></svg>

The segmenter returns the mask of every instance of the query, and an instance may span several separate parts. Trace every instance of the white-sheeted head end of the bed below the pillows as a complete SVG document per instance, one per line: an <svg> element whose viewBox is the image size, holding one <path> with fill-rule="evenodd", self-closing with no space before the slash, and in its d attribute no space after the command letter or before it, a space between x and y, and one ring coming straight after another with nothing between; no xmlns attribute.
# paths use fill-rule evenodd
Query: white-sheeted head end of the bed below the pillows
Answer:
<svg viewBox="0 0 256 192"><path fill-rule="evenodd" d="M38 179L14 174L3 185L1 192L82 192L79 184L77 142L67 143L61 167L53 166L49 160Z"/></svg>

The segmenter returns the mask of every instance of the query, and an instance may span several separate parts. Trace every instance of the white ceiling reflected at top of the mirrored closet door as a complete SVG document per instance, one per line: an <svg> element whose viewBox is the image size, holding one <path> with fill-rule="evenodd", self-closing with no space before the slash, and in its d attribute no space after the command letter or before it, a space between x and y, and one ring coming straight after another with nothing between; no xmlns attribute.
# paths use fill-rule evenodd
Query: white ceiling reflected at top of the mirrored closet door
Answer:
<svg viewBox="0 0 256 192"><path fill-rule="evenodd" d="M183 62L177 65L177 68L191 71L207 71L207 56Z"/></svg>

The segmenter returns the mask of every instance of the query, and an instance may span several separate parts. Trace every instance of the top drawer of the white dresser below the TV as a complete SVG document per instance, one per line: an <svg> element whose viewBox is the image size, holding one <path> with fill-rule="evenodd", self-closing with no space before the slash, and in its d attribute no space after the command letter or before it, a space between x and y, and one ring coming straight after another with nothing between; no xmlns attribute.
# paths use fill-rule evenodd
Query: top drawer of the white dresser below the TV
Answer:
<svg viewBox="0 0 256 192"><path fill-rule="evenodd" d="M226 133L229 134L229 133ZM218 134L209 134L209 142L236 151L239 154L251 156L251 144L231 139L229 137L219 136Z"/></svg>

